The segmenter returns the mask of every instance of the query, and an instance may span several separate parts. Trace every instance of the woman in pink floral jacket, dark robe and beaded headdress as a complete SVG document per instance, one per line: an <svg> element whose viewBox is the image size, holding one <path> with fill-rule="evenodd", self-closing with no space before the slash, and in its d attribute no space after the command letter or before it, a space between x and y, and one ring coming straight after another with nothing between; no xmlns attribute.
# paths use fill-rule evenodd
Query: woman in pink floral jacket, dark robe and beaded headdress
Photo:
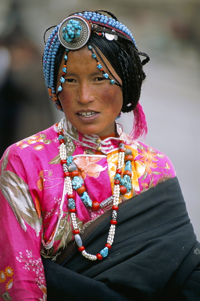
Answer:
<svg viewBox="0 0 200 301"><path fill-rule="evenodd" d="M65 118L1 160L4 300L198 299L200 248L174 168L136 140L149 57L107 14L53 29L44 77ZM132 110L129 137L115 119Z"/></svg>

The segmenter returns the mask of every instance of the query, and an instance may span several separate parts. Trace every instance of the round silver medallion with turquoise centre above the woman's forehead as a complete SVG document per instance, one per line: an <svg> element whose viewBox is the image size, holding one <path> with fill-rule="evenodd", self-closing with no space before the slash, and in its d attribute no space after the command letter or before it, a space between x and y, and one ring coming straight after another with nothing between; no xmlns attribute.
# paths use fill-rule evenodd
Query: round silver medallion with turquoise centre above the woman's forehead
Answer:
<svg viewBox="0 0 200 301"><path fill-rule="evenodd" d="M62 46L77 50L86 45L91 33L89 22L81 16L70 16L64 19L58 29L58 38Z"/></svg>

